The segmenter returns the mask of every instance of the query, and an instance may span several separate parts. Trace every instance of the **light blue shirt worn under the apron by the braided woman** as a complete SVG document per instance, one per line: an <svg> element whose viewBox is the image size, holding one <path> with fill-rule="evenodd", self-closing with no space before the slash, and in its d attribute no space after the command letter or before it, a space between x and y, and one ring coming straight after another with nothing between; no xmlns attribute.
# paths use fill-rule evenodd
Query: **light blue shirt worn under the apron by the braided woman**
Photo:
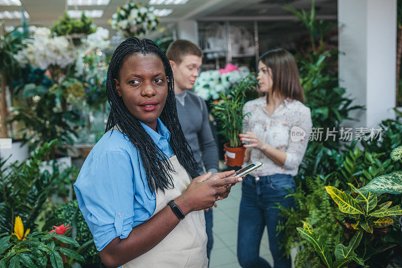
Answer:
<svg viewBox="0 0 402 268"><path fill-rule="evenodd" d="M158 118L158 133L141 123L169 158L170 132ZM93 235L96 249L114 238L126 238L148 220L156 208L140 153L119 130L108 131L85 159L74 184L79 209Z"/></svg>

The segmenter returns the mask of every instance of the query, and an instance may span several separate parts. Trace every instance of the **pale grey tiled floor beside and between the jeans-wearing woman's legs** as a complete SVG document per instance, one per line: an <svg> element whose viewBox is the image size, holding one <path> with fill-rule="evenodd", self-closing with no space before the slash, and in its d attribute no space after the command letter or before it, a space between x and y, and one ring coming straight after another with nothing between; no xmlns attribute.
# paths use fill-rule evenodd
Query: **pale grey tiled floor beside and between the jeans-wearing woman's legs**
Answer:
<svg viewBox="0 0 402 268"><path fill-rule="evenodd" d="M214 208L214 247L211 251L210 268L240 267L236 254L240 199L241 184L237 184L232 187L229 197L218 201L218 207ZM266 228L261 239L260 256L273 265Z"/></svg>

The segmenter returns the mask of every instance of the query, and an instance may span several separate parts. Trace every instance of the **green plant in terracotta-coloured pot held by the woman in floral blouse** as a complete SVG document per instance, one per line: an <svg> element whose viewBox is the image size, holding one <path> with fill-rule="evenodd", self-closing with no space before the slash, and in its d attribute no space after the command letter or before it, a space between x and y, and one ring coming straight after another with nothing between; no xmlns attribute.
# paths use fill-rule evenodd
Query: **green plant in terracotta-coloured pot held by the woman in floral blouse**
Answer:
<svg viewBox="0 0 402 268"><path fill-rule="evenodd" d="M243 106L246 102L247 92L258 86L252 74L246 76L238 85L232 88L229 95L221 93L221 100L213 103L213 113L221 133L226 137L225 151L228 157L229 166L240 166L243 164L245 148L239 138L243 130Z"/></svg>

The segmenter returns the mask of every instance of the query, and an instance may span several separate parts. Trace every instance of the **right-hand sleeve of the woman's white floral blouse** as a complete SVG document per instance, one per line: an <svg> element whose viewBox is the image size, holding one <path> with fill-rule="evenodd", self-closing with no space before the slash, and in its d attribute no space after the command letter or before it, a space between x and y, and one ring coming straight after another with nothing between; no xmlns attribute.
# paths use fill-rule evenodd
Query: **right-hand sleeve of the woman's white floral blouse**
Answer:
<svg viewBox="0 0 402 268"><path fill-rule="evenodd" d="M302 139L298 139L298 136L289 135L289 145L286 150L286 160L283 164L283 168L286 169L296 169L302 163L303 157L305 155L307 144L309 142L310 131L312 128L311 111L308 107L303 107L300 112L295 115L294 121L292 123L291 132L302 132L303 130L306 135ZM301 130L300 130L301 129Z"/></svg>

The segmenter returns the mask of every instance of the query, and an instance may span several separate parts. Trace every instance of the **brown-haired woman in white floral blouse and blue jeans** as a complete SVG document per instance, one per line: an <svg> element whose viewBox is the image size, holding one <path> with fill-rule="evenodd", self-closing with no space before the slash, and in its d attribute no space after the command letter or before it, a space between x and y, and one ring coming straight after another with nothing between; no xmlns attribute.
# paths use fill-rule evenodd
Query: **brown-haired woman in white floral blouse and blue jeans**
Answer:
<svg viewBox="0 0 402 268"><path fill-rule="evenodd" d="M295 190L297 174L309 141L311 112L303 103L296 62L284 49L269 50L260 57L257 79L265 96L244 105L245 162L265 165L243 180L239 213L237 255L243 267L271 267L259 256L263 230L267 226L274 267L290 267L290 259L279 248L281 233L276 226L277 203L294 205L289 190Z"/></svg>

